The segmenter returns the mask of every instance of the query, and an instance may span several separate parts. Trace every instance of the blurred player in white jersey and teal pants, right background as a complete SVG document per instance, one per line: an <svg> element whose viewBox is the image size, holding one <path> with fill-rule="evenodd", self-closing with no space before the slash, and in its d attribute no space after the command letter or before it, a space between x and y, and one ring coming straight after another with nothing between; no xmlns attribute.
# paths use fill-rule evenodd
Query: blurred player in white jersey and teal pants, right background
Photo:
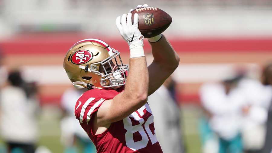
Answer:
<svg viewBox="0 0 272 153"><path fill-rule="evenodd" d="M207 83L200 89L202 105L210 114L209 126L219 137L219 153L241 153L241 110L244 100L237 92L239 77Z"/></svg>

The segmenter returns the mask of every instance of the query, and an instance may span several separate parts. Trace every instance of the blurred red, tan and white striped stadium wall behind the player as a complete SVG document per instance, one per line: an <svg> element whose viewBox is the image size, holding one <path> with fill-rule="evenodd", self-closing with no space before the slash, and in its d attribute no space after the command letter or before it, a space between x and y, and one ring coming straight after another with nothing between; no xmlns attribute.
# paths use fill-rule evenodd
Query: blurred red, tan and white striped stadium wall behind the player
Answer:
<svg viewBox="0 0 272 153"><path fill-rule="evenodd" d="M0 42L5 57L4 67L7 71L20 68L26 80L37 81L42 104L59 105L62 93L72 87L62 68L66 51L74 42L90 36L81 33L11 36ZM119 50L124 63L128 63L128 45L121 38L92 37L103 39ZM204 82L234 76L241 67L258 78L261 67L272 61L272 37L168 38L180 56L180 65L173 76L179 101L185 104L199 103L198 90ZM151 51L148 42L144 48L148 55Z"/></svg>

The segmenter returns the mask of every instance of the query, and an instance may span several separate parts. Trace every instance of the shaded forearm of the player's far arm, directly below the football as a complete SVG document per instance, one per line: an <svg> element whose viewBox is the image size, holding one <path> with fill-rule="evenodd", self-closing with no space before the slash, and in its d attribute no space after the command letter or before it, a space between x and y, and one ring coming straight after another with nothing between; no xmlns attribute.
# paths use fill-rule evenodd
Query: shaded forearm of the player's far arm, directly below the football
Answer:
<svg viewBox="0 0 272 153"><path fill-rule="evenodd" d="M175 70L179 64L180 58L167 41L164 35L157 42L150 42L154 62L159 63L162 67Z"/></svg>

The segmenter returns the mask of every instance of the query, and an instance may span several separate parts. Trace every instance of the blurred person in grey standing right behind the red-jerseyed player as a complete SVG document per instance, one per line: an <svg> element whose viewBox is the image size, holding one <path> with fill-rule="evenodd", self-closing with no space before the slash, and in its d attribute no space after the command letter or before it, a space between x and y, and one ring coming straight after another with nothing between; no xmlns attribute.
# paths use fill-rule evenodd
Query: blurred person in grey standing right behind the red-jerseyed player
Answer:
<svg viewBox="0 0 272 153"><path fill-rule="evenodd" d="M152 95L148 104L154 114L155 133L164 153L184 153L180 108L174 96L171 76Z"/></svg>

